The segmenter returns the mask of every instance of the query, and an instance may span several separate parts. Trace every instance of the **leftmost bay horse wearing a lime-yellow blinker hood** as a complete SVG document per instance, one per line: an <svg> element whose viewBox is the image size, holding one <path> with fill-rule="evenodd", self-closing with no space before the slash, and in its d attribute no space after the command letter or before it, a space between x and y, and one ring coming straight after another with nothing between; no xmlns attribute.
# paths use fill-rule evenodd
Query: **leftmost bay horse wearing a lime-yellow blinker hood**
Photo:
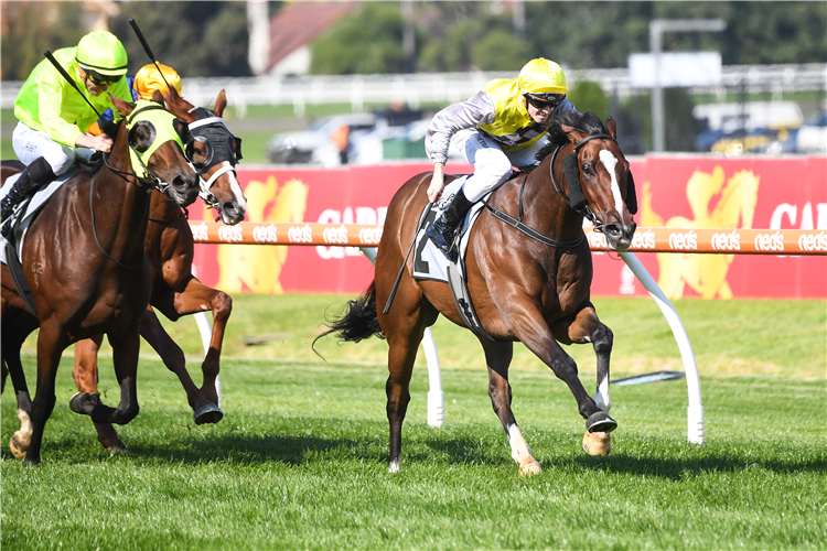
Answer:
<svg viewBox="0 0 827 551"><path fill-rule="evenodd" d="M21 261L36 316L26 310L8 267L0 267L0 350L17 392L21 431L31 429L28 441L12 439L12 451L19 456L25 451L25 464L40 463L61 355L78 339L108 336L121 396L114 409L96 396L78 395L72 409L105 423L125 424L138 414L138 326L152 290L143 250L148 192L163 188L182 207L198 193L197 175L179 144L172 139L154 143L176 131L174 117L158 104L139 101L136 109L118 98L112 102L126 122L118 128L111 154L105 156L106 166L78 173L64 184L25 235ZM131 152L139 162L130 159ZM146 175L141 174L144 168ZM31 400L20 347L36 327L37 382Z"/></svg>

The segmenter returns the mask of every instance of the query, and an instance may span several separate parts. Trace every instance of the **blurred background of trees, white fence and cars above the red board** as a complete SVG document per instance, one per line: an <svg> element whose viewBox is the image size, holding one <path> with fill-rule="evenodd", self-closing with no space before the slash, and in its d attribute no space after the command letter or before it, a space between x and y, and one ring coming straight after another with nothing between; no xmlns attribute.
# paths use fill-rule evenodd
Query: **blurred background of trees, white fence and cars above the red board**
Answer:
<svg viewBox="0 0 827 551"><path fill-rule="evenodd" d="M45 50L107 29L130 74L149 62L130 18L193 104L227 90L246 163L422 159L437 110L538 56L626 154L827 154L824 0L15 0L0 18L3 159Z"/></svg>

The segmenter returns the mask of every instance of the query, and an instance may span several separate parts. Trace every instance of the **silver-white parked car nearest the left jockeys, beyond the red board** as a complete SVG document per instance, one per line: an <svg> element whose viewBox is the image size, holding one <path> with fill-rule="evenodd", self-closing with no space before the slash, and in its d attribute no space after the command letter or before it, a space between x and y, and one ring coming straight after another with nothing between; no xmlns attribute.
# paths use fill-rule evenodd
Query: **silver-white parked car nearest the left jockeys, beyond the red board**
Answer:
<svg viewBox="0 0 827 551"><path fill-rule="evenodd" d="M387 125L372 112L353 112L325 117L314 122L308 130L282 132L267 142L267 158L278 164L319 164L337 166L342 163L340 151L331 139L333 131L346 125L350 129L350 142L354 143L362 136L377 126Z"/></svg>

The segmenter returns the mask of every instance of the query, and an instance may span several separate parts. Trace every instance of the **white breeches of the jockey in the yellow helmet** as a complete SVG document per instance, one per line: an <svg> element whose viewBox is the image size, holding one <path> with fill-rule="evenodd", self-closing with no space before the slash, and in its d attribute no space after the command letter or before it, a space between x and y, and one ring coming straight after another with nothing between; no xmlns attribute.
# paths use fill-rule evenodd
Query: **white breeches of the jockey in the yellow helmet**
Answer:
<svg viewBox="0 0 827 551"><path fill-rule="evenodd" d="M534 164L537 152L548 143L541 138L526 148L503 151L497 142L476 129L461 130L452 139L457 149L474 166L474 174L462 186L465 197L471 202L480 201L505 183L513 166Z"/></svg>

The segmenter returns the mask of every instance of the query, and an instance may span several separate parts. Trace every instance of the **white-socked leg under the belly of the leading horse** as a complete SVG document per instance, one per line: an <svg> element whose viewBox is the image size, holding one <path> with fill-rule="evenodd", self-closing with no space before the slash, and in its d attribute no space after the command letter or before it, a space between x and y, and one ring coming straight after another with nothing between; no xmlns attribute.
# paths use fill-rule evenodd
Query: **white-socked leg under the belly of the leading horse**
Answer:
<svg viewBox="0 0 827 551"><path fill-rule="evenodd" d="M512 457L519 465L520 475L536 475L543 472L540 464L531 456L531 450L517 426L512 411L512 387L508 383L508 366L514 354L511 342L481 341L488 365L488 397L494 413L505 429L505 435L512 446Z"/></svg>

